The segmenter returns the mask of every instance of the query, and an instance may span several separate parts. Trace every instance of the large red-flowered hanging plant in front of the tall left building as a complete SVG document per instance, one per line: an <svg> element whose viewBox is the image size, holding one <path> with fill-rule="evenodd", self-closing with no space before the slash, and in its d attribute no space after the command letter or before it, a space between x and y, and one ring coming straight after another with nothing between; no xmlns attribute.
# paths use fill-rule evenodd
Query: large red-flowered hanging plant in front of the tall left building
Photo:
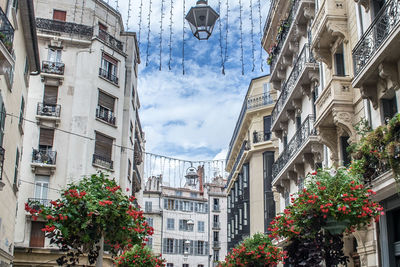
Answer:
<svg viewBox="0 0 400 267"><path fill-rule="evenodd" d="M115 180L103 173L70 184L60 199L50 203L46 207L28 202L25 210L33 220L47 220L42 231L51 244L68 252L57 260L59 265L77 264L83 254L88 255L91 264L95 263L102 238L110 252L117 255L153 234L135 197L125 195Z"/></svg>

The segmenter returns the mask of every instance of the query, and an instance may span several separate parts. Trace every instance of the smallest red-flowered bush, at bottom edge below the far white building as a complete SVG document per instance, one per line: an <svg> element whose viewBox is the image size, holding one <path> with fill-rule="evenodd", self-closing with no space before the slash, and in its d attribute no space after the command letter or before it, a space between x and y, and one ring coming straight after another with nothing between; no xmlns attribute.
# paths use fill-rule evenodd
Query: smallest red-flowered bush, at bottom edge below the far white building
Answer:
<svg viewBox="0 0 400 267"><path fill-rule="evenodd" d="M118 267L161 267L165 266L165 260L153 255L151 249L145 245L134 245L125 250L115 259Z"/></svg>

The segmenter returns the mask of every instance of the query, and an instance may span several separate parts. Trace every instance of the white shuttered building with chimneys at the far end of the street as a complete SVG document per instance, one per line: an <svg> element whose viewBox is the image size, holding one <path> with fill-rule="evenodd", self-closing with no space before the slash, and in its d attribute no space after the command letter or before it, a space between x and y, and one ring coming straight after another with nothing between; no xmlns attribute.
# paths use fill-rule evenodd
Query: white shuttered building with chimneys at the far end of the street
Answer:
<svg viewBox="0 0 400 267"><path fill-rule="evenodd" d="M147 245L168 267L216 266L226 255L226 181L204 184L204 167L187 170L184 187L149 177L143 192L144 216L154 227Z"/></svg>

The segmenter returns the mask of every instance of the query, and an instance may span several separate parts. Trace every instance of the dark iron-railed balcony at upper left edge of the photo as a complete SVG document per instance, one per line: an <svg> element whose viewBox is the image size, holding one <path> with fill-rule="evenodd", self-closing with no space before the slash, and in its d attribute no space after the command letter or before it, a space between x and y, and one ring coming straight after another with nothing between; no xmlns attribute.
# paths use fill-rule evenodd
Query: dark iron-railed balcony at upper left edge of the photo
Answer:
<svg viewBox="0 0 400 267"><path fill-rule="evenodd" d="M13 66L14 28L7 15L0 8L0 66ZM4 74L4 73L2 73Z"/></svg>

